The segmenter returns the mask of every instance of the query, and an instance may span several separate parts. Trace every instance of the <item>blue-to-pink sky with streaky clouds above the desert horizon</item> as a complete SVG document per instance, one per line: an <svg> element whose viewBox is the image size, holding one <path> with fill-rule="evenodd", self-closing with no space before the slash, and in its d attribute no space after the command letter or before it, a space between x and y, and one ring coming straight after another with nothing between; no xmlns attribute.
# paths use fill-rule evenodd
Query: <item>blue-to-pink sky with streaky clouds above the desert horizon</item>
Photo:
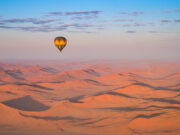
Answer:
<svg viewBox="0 0 180 135"><path fill-rule="evenodd" d="M179 60L179 35L180 0L0 0L0 60Z"/></svg>

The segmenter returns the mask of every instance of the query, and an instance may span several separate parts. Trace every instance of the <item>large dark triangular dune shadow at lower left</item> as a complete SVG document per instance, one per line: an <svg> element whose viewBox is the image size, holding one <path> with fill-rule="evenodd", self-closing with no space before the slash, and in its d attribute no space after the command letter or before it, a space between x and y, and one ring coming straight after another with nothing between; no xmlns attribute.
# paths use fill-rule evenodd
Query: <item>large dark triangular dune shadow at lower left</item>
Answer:
<svg viewBox="0 0 180 135"><path fill-rule="evenodd" d="M7 105L12 108L16 108L22 111L44 111L49 109L49 106L46 106L39 101L36 101L31 96L24 96L17 99L12 99L2 102L4 105Z"/></svg>

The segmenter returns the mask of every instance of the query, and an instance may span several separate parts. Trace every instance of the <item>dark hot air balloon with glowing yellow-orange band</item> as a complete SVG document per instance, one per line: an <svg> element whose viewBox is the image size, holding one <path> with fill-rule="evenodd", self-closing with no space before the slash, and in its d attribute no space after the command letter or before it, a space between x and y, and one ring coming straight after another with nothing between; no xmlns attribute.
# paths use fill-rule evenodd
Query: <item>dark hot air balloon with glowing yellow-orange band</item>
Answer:
<svg viewBox="0 0 180 135"><path fill-rule="evenodd" d="M59 49L60 52L63 50L66 44L67 40L65 37L56 37L54 39L54 45Z"/></svg>

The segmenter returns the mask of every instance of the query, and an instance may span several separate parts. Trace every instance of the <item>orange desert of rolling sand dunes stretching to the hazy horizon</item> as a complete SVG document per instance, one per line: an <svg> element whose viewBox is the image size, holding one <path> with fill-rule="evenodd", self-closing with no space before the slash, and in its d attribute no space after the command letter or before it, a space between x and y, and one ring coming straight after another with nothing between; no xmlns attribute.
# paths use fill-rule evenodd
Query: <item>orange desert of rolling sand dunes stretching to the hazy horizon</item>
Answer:
<svg viewBox="0 0 180 135"><path fill-rule="evenodd" d="M0 135L180 135L180 64L1 61Z"/></svg>

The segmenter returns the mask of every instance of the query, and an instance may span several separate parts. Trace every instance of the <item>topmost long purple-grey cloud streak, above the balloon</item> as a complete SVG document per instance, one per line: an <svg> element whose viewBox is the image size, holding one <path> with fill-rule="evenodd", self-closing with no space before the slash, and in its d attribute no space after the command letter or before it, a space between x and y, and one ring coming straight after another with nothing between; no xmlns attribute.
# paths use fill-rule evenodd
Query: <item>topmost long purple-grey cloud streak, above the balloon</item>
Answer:
<svg viewBox="0 0 180 135"><path fill-rule="evenodd" d="M99 10L90 10L90 11L72 11L72 12L49 12L47 15L56 16L56 15L97 15L102 11Z"/></svg>

